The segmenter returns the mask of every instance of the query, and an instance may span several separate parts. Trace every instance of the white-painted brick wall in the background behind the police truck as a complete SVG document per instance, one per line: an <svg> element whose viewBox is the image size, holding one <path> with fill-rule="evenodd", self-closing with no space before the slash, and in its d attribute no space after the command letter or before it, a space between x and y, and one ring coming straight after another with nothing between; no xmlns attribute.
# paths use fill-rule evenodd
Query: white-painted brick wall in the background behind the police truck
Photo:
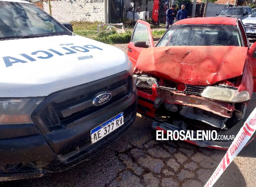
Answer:
<svg viewBox="0 0 256 187"><path fill-rule="evenodd" d="M55 0L50 2L52 17L59 22L101 21L104 22L104 0ZM48 1L43 9L49 13Z"/></svg>

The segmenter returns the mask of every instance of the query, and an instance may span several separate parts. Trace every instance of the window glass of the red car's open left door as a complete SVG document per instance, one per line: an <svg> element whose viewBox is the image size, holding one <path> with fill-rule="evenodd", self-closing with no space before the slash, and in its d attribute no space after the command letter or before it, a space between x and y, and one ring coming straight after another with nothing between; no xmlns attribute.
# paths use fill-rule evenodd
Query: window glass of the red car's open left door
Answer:
<svg viewBox="0 0 256 187"><path fill-rule="evenodd" d="M137 23L131 42L134 43L136 41L145 41L149 45L149 34L146 25Z"/></svg>

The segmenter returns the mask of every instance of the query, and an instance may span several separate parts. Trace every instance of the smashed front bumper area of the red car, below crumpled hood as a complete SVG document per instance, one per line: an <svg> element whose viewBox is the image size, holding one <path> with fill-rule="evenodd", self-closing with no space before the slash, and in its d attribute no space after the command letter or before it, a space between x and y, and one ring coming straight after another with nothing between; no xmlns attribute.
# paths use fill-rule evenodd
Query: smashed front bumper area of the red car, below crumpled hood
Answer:
<svg viewBox="0 0 256 187"><path fill-rule="evenodd" d="M138 89L138 112L155 120L153 128L166 131L215 130L236 135L242 127L247 102L230 103L201 97L207 86L164 85L161 78L134 75ZM185 140L197 146L227 149L233 140Z"/></svg>

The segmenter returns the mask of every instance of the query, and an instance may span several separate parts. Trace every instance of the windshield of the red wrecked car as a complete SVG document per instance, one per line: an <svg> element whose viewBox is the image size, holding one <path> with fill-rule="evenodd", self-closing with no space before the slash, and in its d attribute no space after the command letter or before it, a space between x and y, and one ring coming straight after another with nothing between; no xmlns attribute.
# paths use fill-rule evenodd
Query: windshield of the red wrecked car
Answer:
<svg viewBox="0 0 256 187"><path fill-rule="evenodd" d="M242 46L235 25L172 25L159 46Z"/></svg>

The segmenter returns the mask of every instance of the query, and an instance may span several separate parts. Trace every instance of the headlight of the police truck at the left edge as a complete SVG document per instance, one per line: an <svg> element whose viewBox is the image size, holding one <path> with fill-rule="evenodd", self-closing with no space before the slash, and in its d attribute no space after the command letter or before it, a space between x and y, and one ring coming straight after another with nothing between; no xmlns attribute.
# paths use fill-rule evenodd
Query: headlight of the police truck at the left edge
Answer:
<svg viewBox="0 0 256 187"><path fill-rule="evenodd" d="M0 125L33 123L31 113L43 99L0 99Z"/></svg>

